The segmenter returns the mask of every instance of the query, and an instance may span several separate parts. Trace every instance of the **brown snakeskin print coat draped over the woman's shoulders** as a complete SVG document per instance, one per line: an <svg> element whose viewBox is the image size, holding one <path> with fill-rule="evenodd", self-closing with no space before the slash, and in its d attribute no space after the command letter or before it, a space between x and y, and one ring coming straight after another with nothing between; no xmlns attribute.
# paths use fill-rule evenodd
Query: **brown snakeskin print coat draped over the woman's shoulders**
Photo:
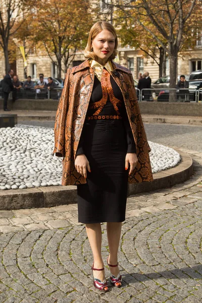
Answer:
<svg viewBox="0 0 202 303"><path fill-rule="evenodd" d="M136 144L138 163L129 176L129 183L153 181L149 161L148 145L142 118L137 102L134 81L131 72L112 61L112 77L119 85L128 119ZM55 148L53 154L63 157L62 185L86 183L75 169L74 161L83 128L94 81L94 69L89 60L79 66L69 68L64 89L58 105L55 123Z"/></svg>

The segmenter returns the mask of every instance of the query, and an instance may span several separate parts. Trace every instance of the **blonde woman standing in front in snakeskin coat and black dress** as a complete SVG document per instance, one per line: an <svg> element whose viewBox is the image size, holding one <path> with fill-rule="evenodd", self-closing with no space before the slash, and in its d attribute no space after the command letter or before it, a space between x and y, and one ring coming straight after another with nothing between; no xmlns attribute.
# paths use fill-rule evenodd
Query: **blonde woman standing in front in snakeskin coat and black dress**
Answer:
<svg viewBox="0 0 202 303"><path fill-rule="evenodd" d="M147 143L131 72L112 60L117 34L95 23L87 60L67 71L55 124L54 153L63 160L63 185L77 185L78 219L86 224L93 254L93 284L108 291L101 255L107 222L111 283L120 287L118 248L128 182L152 181Z"/></svg>

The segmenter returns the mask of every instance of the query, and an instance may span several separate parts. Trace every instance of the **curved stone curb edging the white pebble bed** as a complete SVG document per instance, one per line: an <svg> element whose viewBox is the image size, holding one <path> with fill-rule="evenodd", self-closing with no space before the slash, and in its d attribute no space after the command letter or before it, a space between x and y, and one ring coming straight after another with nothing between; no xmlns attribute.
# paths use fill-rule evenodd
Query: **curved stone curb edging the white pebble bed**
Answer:
<svg viewBox="0 0 202 303"><path fill-rule="evenodd" d="M153 191L187 180L193 173L191 157L175 149L181 156L181 162L174 168L154 174L153 182L129 184L128 196ZM0 210L54 207L77 203L76 186L48 186L0 191Z"/></svg>

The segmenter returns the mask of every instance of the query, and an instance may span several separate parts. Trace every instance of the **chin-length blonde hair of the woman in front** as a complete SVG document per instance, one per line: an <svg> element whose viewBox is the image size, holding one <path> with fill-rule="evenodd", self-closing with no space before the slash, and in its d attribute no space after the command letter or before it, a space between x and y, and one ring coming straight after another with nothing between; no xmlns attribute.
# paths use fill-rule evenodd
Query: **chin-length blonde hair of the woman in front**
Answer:
<svg viewBox="0 0 202 303"><path fill-rule="evenodd" d="M109 30L115 37L114 51L108 60L113 60L117 56L118 39L117 39L117 33L116 33L114 26L107 21L98 21L90 29L90 33L88 36L88 42L87 42L87 45L86 45L86 48L84 51L85 58L88 58L88 59L91 58L93 60L96 60L97 56L91 50L91 43L92 43L92 40L95 38L95 36L98 35L100 32L102 32L102 30L104 30L104 29Z"/></svg>

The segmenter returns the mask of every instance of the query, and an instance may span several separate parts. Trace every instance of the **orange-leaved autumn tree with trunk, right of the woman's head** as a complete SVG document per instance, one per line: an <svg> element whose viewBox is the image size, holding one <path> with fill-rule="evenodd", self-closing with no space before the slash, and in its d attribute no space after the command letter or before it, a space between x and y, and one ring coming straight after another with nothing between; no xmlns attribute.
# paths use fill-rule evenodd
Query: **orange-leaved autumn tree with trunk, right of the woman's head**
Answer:
<svg viewBox="0 0 202 303"><path fill-rule="evenodd" d="M201 32L199 0L114 0L115 22L121 39L145 53L162 47L170 59L170 86L175 87L178 53ZM125 33L124 33L125 28Z"/></svg>

